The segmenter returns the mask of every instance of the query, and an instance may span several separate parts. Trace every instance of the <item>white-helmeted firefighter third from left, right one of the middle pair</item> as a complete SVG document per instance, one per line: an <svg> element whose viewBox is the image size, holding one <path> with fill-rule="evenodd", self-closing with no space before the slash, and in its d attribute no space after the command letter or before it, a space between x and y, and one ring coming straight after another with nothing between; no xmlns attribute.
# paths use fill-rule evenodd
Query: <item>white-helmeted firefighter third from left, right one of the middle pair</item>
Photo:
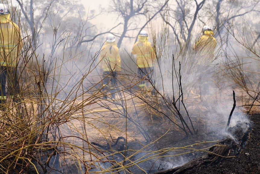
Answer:
<svg viewBox="0 0 260 174"><path fill-rule="evenodd" d="M150 80L152 80L154 60L156 55L151 42L148 41L148 34L146 31L142 30L138 35L138 41L133 46L132 54L136 54L136 64L138 66L138 74L140 77L148 77ZM139 89L143 90L146 87L151 88L151 81L146 83L145 80L141 80L138 83L138 87Z"/></svg>

